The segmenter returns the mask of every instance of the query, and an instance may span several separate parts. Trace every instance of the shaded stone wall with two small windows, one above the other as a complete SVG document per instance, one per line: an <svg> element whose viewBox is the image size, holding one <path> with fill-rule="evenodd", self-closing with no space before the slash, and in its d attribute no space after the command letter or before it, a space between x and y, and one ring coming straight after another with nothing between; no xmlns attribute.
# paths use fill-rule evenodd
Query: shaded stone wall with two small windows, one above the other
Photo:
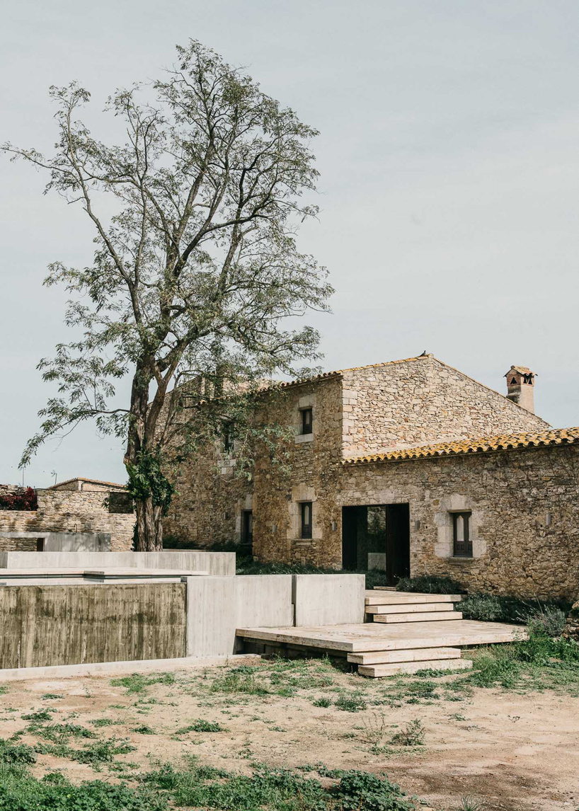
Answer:
<svg viewBox="0 0 579 811"><path fill-rule="evenodd" d="M312 433L300 436L300 409L312 409ZM262 561L341 565L335 493L341 467L341 380L291 386L264 402L268 423L294 428L290 473L281 476L259 453L254 483L254 556ZM300 538L300 502L312 502L311 539ZM335 529L332 529L335 521ZM334 543L336 542L336 543Z"/></svg>

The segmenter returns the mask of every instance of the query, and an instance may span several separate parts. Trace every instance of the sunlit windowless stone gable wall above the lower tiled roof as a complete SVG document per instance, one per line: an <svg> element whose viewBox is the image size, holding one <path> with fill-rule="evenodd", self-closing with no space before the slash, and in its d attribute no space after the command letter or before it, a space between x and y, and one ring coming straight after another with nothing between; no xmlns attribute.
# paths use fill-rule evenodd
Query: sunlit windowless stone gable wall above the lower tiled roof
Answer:
<svg viewBox="0 0 579 811"><path fill-rule="evenodd" d="M431 355L342 374L345 457L549 427Z"/></svg>

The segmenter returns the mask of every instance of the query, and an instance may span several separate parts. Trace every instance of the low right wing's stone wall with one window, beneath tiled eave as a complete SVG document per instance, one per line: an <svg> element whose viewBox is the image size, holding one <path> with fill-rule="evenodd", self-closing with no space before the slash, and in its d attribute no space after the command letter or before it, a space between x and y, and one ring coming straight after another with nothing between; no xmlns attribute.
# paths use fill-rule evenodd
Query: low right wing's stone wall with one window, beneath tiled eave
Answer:
<svg viewBox="0 0 579 811"><path fill-rule="evenodd" d="M340 504L410 503L410 570L470 591L575 599L579 448L345 466ZM452 558L452 511L472 511L474 557ZM335 544L324 544L328 560Z"/></svg>

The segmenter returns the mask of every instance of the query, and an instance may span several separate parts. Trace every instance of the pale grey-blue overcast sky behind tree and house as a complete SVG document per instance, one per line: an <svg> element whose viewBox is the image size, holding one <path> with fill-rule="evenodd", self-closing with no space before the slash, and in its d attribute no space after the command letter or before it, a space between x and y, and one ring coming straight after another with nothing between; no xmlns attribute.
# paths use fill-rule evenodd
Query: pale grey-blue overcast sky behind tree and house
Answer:
<svg viewBox="0 0 579 811"><path fill-rule="evenodd" d="M159 74L189 37L247 67L317 127L320 221L300 245L331 272L324 367L422 350L505 390L538 372L536 410L579 424L579 7L576 0L7 0L0 140L49 149L50 84L92 92L92 129L118 86ZM106 119L106 117L105 117ZM66 341L53 260L85 264L79 208L2 163L0 482L51 393L36 363ZM124 481L122 444L84 427L53 441L26 483Z"/></svg>

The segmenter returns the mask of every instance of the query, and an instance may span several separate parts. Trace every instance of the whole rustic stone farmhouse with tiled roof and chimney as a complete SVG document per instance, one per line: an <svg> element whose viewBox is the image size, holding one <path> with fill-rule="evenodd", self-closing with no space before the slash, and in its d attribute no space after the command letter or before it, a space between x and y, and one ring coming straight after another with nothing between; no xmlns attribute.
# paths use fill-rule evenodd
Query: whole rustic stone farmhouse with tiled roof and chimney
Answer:
<svg viewBox="0 0 579 811"><path fill-rule="evenodd" d="M262 453L251 483L237 478L234 446L216 441L182 467L165 536L574 598L579 428L534 414L530 369L505 377L506 396L423 354L266 388L261 418L294 429L289 474Z"/></svg>

